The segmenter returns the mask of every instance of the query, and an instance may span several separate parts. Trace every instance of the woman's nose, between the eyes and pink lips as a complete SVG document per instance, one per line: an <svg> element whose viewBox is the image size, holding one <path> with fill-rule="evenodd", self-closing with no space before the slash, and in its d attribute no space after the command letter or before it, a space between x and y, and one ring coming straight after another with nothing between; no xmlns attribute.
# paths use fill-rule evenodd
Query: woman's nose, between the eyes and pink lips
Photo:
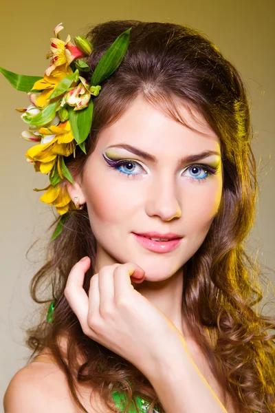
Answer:
<svg viewBox="0 0 275 413"><path fill-rule="evenodd" d="M146 213L149 216L157 215L164 221L173 220L181 216L179 207L179 194L175 181L164 174L154 180L148 189L148 198L146 202Z"/></svg>

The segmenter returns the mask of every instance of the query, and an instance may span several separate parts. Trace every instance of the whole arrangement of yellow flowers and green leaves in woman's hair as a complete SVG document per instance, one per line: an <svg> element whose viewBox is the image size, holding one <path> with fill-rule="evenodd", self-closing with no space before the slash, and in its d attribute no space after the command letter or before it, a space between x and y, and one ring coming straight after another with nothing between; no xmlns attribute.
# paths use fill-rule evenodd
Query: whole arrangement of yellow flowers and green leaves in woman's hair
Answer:
<svg viewBox="0 0 275 413"><path fill-rule="evenodd" d="M74 183L66 165L68 156L76 157L76 148L86 154L85 140L89 136L94 113L94 98L99 95L105 81L122 62L129 45L131 28L122 32L105 52L91 74L85 59L92 53L92 46L85 37L74 39L68 35L63 41L59 32L62 23L54 29L47 59L50 65L41 76L25 76L0 67L0 72L11 85L27 92L31 105L19 108L22 120L28 124L21 137L36 145L26 151L27 162L36 172L49 175L50 184L40 200L56 208L61 219L52 235L57 237L63 224L76 209L67 191L66 181ZM89 79L89 80L88 80Z"/></svg>

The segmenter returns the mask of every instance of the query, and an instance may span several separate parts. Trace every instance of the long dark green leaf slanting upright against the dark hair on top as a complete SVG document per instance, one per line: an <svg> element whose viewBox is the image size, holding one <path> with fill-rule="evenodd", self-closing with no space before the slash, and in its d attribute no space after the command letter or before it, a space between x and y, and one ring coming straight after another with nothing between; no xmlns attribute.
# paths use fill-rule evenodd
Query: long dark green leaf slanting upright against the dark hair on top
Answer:
<svg viewBox="0 0 275 413"><path fill-rule="evenodd" d="M131 28L120 34L104 53L91 77L91 86L99 85L118 68L128 49L130 30Z"/></svg>

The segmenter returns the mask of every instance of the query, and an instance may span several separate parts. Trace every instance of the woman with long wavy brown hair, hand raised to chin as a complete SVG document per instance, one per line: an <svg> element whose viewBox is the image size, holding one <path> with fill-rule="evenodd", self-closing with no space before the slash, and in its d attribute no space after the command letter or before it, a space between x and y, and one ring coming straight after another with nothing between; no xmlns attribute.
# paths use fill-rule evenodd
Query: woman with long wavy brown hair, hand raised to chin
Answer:
<svg viewBox="0 0 275 413"><path fill-rule="evenodd" d="M77 66L86 90L73 83L63 91L64 111L36 134L47 149L68 128L76 139L70 108L89 108L85 82L129 28L119 67L94 94L86 153L79 144L61 160L26 154L43 173L59 165L52 179L69 173L41 197L63 218L31 285L45 302L36 292L51 279L54 313L28 330L33 353L8 387L5 411L145 412L152 402L148 412L274 412L274 335L265 332L274 317L252 308L262 298L259 270L243 246L257 181L248 97L234 65L187 26L96 25L87 35L93 50L82 45L89 67ZM61 67L59 44L45 76ZM76 52L68 39L62 47ZM45 76L31 109L49 103Z"/></svg>

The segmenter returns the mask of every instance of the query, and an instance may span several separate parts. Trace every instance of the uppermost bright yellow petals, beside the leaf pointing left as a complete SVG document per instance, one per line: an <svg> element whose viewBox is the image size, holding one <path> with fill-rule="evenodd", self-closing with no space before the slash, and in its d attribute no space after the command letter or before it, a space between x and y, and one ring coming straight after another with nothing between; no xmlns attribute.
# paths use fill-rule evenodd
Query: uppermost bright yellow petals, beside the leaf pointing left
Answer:
<svg viewBox="0 0 275 413"><path fill-rule="evenodd" d="M36 106L45 107L47 105L47 99L50 98L56 86L58 86L65 76L72 74L72 72L73 71L68 63L55 67L50 76L47 76L45 72L43 79L34 83L34 86L32 87L34 90L43 90L36 99Z"/></svg>

